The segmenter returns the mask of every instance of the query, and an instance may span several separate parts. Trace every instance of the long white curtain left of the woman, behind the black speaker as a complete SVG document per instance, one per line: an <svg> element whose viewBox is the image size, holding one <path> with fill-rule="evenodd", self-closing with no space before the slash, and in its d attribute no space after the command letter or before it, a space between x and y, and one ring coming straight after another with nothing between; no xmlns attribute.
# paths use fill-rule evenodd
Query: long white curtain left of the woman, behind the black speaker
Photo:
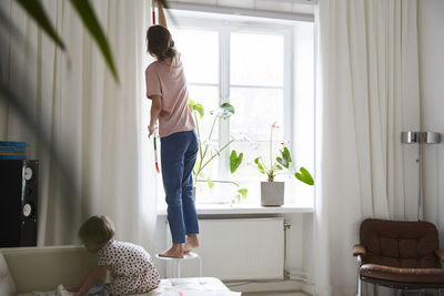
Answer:
<svg viewBox="0 0 444 296"><path fill-rule="evenodd" d="M28 142L28 159L40 160L39 245L75 243L82 221L104 214L113 220L119 239L153 251L157 198L150 188L155 186L153 170L148 170L153 164L142 153L152 155L142 126L142 116L149 115L142 111L151 2L91 3L110 41L119 84L69 1L43 1L67 52L16 1L0 4L27 40L16 42L10 30L1 31L2 79L26 96L74 186L67 192L67 180L43 140L10 104L0 104L0 139Z"/></svg>

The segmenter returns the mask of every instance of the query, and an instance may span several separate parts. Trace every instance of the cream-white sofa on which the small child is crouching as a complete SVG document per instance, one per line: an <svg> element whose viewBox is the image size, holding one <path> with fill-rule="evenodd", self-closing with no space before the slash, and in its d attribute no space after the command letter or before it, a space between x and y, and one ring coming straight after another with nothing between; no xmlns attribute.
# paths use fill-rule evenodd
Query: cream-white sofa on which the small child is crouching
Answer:
<svg viewBox="0 0 444 296"><path fill-rule="evenodd" d="M80 246L0 248L0 253L19 296L31 295L33 290L53 290L58 284L73 286L97 264L95 255ZM1 294L0 289L0 296L4 296ZM162 279L159 288L140 295L235 296L241 293L231 292L214 277L194 277Z"/></svg>

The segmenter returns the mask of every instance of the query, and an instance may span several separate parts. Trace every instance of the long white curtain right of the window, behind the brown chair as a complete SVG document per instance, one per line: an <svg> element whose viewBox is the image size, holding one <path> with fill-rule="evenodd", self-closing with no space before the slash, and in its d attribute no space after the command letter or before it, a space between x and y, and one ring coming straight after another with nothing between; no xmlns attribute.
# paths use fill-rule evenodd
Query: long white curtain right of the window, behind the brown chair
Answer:
<svg viewBox="0 0 444 296"><path fill-rule="evenodd" d="M316 295L354 295L366 217L415 220L416 0L320 0Z"/></svg>

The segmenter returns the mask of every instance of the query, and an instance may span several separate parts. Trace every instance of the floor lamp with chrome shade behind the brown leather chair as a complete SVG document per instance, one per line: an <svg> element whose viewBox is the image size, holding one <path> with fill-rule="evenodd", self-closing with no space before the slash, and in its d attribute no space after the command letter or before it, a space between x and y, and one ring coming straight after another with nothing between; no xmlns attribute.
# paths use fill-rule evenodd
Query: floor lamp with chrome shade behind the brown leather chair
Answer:
<svg viewBox="0 0 444 296"><path fill-rule="evenodd" d="M420 144L417 150L417 171L418 171L418 193L417 193L417 221L423 220L423 177L422 177L422 164L421 164L421 154L422 154L422 145L421 144L438 144L441 143L441 134L435 132L402 132L401 133L401 142L405 144Z"/></svg>

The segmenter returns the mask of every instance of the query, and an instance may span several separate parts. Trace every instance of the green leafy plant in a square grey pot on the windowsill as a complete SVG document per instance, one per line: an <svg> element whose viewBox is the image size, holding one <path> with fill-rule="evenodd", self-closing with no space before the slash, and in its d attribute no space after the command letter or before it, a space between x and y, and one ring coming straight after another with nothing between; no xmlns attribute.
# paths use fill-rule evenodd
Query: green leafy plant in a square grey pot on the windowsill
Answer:
<svg viewBox="0 0 444 296"><path fill-rule="evenodd" d="M312 175L305 167L301 166L299 172L294 171L290 151L284 142L281 143L282 149L279 151L279 156L273 160L273 130L276 127L276 122L273 122L270 131L270 163L266 165L261 156L254 160L259 172L268 176L268 182L261 182L261 204L264 206L284 204L284 182L274 181L279 174L290 173L307 185L314 184Z"/></svg>

